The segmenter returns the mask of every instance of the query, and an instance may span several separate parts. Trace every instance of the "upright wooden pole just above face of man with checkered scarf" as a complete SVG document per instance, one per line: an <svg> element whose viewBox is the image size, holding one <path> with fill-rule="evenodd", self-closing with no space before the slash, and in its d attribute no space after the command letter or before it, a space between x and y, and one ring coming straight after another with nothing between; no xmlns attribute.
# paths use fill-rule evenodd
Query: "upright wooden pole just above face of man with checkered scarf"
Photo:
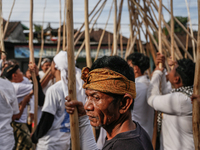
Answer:
<svg viewBox="0 0 200 150"><path fill-rule="evenodd" d="M174 54L174 17L173 17L173 0L171 0L171 56L172 61L175 60Z"/></svg>

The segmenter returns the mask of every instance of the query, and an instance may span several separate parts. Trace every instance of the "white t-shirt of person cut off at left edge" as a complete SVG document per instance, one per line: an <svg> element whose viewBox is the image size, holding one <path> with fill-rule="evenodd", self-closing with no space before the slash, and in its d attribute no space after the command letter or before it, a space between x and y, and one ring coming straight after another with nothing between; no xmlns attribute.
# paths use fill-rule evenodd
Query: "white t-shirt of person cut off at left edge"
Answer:
<svg viewBox="0 0 200 150"><path fill-rule="evenodd" d="M19 106L13 85L0 78L0 149L12 150L14 147L13 128L10 123L13 114L19 113Z"/></svg>

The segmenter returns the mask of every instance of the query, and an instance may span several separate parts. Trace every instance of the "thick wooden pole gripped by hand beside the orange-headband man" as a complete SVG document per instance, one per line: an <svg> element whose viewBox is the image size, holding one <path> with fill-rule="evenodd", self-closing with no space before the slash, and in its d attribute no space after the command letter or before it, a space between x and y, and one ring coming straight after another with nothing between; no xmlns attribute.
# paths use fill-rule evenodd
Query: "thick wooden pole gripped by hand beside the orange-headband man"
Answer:
<svg viewBox="0 0 200 150"><path fill-rule="evenodd" d="M76 99L76 76L74 61L74 28L73 28L73 0L67 2L67 57L68 57L68 90L71 100ZM70 131L72 150L80 150L78 111L70 114Z"/></svg>

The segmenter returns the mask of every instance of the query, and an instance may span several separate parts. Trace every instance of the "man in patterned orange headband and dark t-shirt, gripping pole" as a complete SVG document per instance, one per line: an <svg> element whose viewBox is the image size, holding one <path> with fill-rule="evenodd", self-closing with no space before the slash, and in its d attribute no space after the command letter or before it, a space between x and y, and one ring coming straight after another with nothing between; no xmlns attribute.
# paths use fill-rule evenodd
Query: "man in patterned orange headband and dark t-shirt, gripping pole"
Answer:
<svg viewBox="0 0 200 150"><path fill-rule="evenodd" d="M118 56L104 56L91 69L82 70L82 79L90 124L107 132L103 150L152 150L148 134L131 119L136 92L134 73L127 62ZM67 111L73 113L76 104L66 102Z"/></svg>

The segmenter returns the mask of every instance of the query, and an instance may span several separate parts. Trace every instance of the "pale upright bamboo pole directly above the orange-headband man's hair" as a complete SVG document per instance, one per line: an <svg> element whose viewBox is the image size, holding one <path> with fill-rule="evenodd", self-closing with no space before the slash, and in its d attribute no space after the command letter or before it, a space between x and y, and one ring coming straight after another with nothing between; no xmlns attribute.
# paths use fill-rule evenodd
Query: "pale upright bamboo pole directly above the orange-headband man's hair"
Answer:
<svg viewBox="0 0 200 150"><path fill-rule="evenodd" d="M115 13L114 13L114 27L113 27L113 55L117 55L117 0L114 0Z"/></svg>

